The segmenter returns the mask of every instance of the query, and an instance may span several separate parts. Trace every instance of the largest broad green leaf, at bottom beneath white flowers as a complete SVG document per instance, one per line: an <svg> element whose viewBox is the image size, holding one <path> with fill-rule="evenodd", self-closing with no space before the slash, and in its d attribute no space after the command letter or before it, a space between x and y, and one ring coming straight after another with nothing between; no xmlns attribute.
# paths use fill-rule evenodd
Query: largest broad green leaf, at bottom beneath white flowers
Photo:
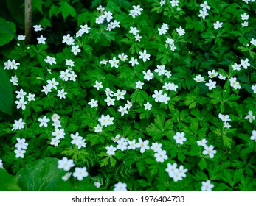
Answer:
<svg viewBox="0 0 256 206"><path fill-rule="evenodd" d="M57 185L63 181L65 171L57 166L57 158L45 158L21 168L17 177L22 191L58 191Z"/></svg>

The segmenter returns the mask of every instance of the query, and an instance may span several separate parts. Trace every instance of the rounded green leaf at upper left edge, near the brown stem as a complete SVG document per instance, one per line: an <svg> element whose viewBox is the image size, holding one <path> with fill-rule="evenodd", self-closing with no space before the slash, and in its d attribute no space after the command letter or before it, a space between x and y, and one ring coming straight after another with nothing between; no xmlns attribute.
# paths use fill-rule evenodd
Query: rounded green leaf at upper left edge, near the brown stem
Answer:
<svg viewBox="0 0 256 206"><path fill-rule="evenodd" d="M16 37L16 26L13 22L0 18L0 46L9 43Z"/></svg>

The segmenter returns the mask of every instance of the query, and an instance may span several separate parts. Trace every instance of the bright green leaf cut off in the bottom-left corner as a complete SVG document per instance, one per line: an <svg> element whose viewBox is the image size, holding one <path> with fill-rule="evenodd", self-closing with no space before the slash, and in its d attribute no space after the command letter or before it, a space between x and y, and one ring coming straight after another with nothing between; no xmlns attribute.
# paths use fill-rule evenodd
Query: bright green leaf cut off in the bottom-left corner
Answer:
<svg viewBox="0 0 256 206"><path fill-rule="evenodd" d="M0 191L21 191L18 178L0 168Z"/></svg>

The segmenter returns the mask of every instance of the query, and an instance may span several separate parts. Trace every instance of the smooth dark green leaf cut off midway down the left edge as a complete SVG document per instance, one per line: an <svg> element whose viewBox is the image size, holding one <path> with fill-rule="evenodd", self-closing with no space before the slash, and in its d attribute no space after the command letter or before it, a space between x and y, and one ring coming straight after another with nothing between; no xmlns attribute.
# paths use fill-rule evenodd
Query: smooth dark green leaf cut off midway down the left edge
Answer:
<svg viewBox="0 0 256 206"><path fill-rule="evenodd" d="M10 79L5 71L0 69L0 110L9 115L12 114L13 93Z"/></svg>

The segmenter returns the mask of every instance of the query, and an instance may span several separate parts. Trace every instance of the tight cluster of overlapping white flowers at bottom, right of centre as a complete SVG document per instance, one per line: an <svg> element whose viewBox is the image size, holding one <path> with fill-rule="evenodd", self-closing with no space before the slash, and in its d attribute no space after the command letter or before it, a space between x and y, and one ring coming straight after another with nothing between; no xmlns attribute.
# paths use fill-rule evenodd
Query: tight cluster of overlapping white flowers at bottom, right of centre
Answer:
<svg viewBox="0 0 256 206"><path fill-rule="evenodd" d="M167 168L165 171L169 174L169 177L173 178L174 182L178 182L179 180L183 180L182 177L186 177L187 168L184 166L179 166L177 168L177 163L167 163Z"/></svg>

